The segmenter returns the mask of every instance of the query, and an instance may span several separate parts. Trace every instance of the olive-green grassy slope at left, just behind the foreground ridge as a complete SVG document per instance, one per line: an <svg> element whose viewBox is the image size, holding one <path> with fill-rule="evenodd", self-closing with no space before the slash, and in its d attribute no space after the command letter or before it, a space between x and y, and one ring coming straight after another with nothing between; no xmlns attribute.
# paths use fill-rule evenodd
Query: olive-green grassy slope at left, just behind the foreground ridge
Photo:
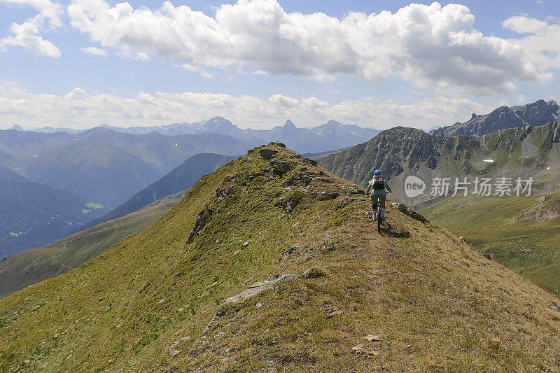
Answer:
<svg viewBox="0 0 560 373"><path fill-rule="evenodd" d="M175 199L146 207L53 244L4 258L0 262L0 298L78 267L121 239L148 227L177 202Z"/></svg>

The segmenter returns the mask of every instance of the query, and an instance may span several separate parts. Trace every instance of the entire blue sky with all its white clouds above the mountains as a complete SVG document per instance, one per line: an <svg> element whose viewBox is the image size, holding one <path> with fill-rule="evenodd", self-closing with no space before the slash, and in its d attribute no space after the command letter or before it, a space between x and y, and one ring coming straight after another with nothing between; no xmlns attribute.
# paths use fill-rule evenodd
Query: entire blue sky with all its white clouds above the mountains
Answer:
<svg viewBox="0 0 560 373"><path fill-rule="evenodd" d="M0 0L0 129L214 115L428 129L560 98L560 1L116 4Z"/></svg>

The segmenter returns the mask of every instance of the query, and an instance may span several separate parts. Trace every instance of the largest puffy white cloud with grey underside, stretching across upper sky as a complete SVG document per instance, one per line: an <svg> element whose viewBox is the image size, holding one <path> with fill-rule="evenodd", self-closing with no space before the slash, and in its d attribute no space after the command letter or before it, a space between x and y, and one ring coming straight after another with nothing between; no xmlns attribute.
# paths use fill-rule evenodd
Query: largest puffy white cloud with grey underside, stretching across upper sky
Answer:
<svg viewBox="0 0 560 373"><path fill-rule="evenodd" d="M123 57L160 57L190 66L290 73L317 80L338 75L379 83L404 78L419 87L512 92L516 80L543 82L523 45L474 29L462 5L409 4L397 12L287 13L276 0L223 4L209 17L165 1L160 8L72 0L71 24ZM141 56L141 57L140 57Z"/></svg>

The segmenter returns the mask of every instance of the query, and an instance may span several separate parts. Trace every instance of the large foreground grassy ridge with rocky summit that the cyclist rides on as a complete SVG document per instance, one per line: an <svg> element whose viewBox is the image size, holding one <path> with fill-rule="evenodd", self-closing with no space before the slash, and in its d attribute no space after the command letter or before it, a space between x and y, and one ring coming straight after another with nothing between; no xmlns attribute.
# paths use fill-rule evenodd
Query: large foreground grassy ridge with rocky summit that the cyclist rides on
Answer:
<svg viewBox="0 0 560 373"><path fill-rule="evenodd" d="M0 366L560 369L559 300L396 209L380 236L356 192L280 146L251 150L143 232L1 300ZM296 276L222 304L276 274Z"/></svg>

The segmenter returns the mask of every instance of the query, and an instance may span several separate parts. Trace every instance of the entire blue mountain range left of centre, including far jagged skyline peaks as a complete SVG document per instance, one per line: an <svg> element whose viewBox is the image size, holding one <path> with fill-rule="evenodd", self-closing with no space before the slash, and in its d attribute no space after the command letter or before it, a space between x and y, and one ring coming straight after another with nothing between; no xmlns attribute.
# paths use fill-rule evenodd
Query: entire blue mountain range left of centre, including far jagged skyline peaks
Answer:
<svg viewBox="0 0 560 373"><path fill-rule="evenodd" d="M44 214L32 217L25 213L23 209L27 200L20 199L18 209L22 209L23 214L21 227L18 232L3 232L0 255L47 244L69 232L78 232L104 220L124 216L159 197L165 197L167 190L173 189L170 184L165 189L164 185L169 180L155 185L154 188L166 190L155 192L155 197L154 188L140 191L193 155L215 153L234 156L269 141L284 141L302 152L316 153L355 145L377 133L374 129L342 125L334 120L312 129L297 128L288 120L286 125L267 131L242 130L221 117L162 127L120 129L102 126L83 131L43 127L37 131L25 131L18 125L0 131L0 167L15 171L26 182L68 192L73 195L69 198L73 206L69 211L89 212L83 216L66 216L69 223L64 229L61 227L43 235L38 225L50 222L38 221L45 218ZM209 164L204 164L203 157L197 161L202 162L199 171L214 171L212 167L207 167ZM176 183L183 185L181 190L190 187L202 176L192 164L190 167L194 173ZM30 184L26 185L29 187ZM13 186L10 185L10 188ZM41 195L44 197L45 193ZM85 204L94 206L95 210L83 207ZM122 208L120 205L123 205ZM78 209L78 206L81 208ZM32 206L27 206L27 211L32 209ZM106 217L99 219L103 215ZM50 216L47 218L50 219ZM87 222L90 223L85 225ZM4 227L8 229L8 225ZM43 237L35 237L36 234Z"/></svg>

